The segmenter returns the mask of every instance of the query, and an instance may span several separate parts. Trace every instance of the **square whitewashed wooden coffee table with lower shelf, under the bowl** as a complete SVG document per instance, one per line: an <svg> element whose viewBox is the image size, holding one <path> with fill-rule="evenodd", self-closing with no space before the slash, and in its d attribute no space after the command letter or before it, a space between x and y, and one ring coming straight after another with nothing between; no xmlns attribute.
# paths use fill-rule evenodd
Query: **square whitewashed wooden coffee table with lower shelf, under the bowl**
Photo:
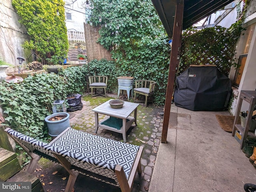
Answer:
<svg viewBox="0 0 256 192"><path fill-rule="evenodd" d="M92 109L92 111L95 114L95 130L94 133L97 133L98 127L102 127L103 129L108 129L110 131L115 131L117 133L122 133L123 140L126 142L126 131L131 127L132 123L134 122L137 125L136 119L137 119L137 108L139 106L138 103L132 103L132 102L124 102L124 105L122 108L114 109L110 107L110 104L108 103L113 99L108 100L107 102L99 105L98 107ZM134 117L130 116L130 114L134 111ZM106 120L108 120L109 117L104 118L99 123L98 114L104 114L107 116L120 118L122 119L122 127L118 130L114 127L110 127L108 125L100 124ZM129 120L129 121L127 121Z"/></svg>

